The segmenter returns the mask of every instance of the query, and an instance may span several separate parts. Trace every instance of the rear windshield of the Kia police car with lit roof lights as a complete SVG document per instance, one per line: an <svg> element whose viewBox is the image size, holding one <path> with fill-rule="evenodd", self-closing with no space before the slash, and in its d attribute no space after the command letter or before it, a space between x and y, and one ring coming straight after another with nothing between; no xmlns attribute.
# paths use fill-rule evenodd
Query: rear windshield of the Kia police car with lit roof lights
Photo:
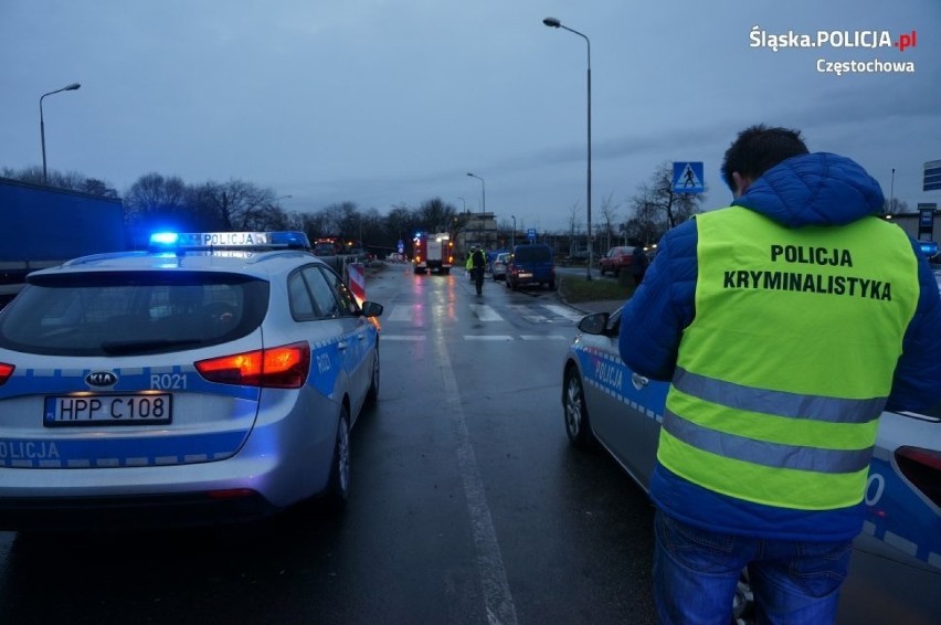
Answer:
<svg viewBox="0 0 941 625"><path fill-rule="evenodd" d="M267 301L268 283L240 274L32 276L0 315L0 347L62 356L194 349L251 333Z"/></svg>

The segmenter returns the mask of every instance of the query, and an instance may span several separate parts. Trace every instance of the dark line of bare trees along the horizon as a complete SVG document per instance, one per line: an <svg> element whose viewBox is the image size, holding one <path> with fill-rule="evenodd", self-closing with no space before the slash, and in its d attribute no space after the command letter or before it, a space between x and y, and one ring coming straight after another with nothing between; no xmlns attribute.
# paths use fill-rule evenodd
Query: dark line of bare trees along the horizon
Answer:
<svg viewBox="0 0 941 625"><path fill-rule="evenodd" d="M140 245L150 232L177 230L181 232L208 231L265 231L299 230L310 241L336 237L358 241L370 252L392 252L398 242L406 248L413 234L424 232L459 232L470 216L466 211L441 198L430 198L417 206L405 203L392 205L380 212L376 208L363 209L356 202L331 203L310 211L286 211L279 195L271 187L261 187L246 180L231 179L228 182L207 181L187 183L176 176L151 172L141 176L121 195L109 183L88 178L77 172L50 170L43 180L41 167L24 169L0 168L0 177L32 184L45 184L59 189L80 191L92 195L120 199L125 206L125 220L130 243ZM723 190L725 191L725 190ZM659 241L667 230L702 211L704 193L677 193L673 188L673 167L662 162L646 182L626 199L622 216L620 202L614 193L603 198L600 218L593 227L594 251L604 253L609 247L634 241L652 244ZM887 199L886 213L899 213L907 204ZM598 214L598 213L596 213ZM543 232L568 239L570 247L585 247L583 218L585 211L578 203L569 209L567 229ZM516 224L516 237L522 240L526 224ZM507 219L497 221L497 237L509 241L512 224Z"/></svg>

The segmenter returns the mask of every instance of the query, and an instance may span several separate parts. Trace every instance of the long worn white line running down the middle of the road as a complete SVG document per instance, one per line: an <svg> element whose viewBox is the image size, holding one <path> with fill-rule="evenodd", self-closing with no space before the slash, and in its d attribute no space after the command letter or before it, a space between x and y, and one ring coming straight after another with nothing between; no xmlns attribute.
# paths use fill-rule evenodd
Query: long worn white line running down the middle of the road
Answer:
<svg viewBox="0 0 941 625"><path fill-rule="evenodd" d="M467 498L467 511L470 516L470 530L474 534L474 547L477 552L477 573L480 587L484 591L484 603L489 625L516 625L516 607L507 582L507 572L494 529L494 519L487 506L484 492L484 481L477 469L477 457L470 444L470 432L467 420L461 407L461 394L457 389L457 378L451 366L451 358L445 347L444 329L435 328L434 346L441 362L441 374L444 382L445 412L451 415L457 438L457 464L461 480L464 484L464 496Z"/></svg>

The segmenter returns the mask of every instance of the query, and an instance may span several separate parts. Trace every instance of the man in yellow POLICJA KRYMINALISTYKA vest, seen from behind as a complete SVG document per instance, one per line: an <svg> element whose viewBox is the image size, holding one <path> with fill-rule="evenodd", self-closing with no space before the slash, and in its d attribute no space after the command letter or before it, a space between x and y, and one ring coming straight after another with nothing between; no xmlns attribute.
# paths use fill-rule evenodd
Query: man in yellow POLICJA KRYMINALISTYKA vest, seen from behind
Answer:
<svg viewBox="0 0 941 625"><path fill-rule="evenodd" d="M621 317L634 371L670 380L651 479L663 623L829 623L863 527L884 409L941 400L941 299L856 162L753 126L734 201L668 232Z"/></svg>

